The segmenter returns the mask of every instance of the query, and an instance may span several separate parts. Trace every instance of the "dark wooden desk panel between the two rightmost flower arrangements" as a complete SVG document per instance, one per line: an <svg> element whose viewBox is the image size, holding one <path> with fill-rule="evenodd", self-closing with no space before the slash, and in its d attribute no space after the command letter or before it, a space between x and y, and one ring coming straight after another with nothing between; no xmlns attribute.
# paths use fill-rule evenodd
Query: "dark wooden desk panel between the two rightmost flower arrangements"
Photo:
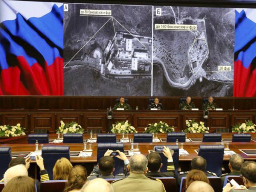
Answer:
<svg viewBox="0 0 256 192"><path fill-rule="evenodd" d="M229 123L229 114L209 114L207 126L210 128L211 132L216 129L228 128L231 131Z"/></svg>

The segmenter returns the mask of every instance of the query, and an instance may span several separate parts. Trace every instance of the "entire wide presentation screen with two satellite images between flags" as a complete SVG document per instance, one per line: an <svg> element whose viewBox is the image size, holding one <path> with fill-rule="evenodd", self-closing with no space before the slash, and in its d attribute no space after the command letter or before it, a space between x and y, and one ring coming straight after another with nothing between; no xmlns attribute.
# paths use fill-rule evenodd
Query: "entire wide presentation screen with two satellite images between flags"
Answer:
<svg viewBox="0 0 256 192"><path fill-rule="evenodd" d="M0 0L0 94L256 96L256 9Z"/></svg>

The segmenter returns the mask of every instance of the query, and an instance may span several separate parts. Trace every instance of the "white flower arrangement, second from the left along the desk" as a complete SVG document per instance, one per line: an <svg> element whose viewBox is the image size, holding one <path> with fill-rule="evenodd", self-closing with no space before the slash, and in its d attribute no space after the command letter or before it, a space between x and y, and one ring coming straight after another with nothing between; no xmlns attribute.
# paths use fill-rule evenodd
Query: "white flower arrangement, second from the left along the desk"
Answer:
<svg viewBox="0 0 256 192"><path fill-rule="evenodd" d="M63 121L60 121L60 126L56 130L56 133L84 133L84 129L77 122L72 121L65 124Z"/></svg>

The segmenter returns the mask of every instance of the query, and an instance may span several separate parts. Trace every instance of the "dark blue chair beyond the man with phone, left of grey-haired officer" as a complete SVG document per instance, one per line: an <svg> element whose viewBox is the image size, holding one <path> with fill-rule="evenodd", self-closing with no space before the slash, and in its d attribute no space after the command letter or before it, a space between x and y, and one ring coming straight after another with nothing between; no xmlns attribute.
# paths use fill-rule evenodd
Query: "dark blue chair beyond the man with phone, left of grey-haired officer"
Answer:
<svg viewBox="0 0 256 192"><path fill-rule="evenodd" d="M107 150L120 150L121 152L124 152L124 144L123 143L98 143L97 148L97 162L99 162L100 158L104 156ZM124 161L120 160L116 157L115 159L115 171L114 175L119 173L124 173Z"/></svg>

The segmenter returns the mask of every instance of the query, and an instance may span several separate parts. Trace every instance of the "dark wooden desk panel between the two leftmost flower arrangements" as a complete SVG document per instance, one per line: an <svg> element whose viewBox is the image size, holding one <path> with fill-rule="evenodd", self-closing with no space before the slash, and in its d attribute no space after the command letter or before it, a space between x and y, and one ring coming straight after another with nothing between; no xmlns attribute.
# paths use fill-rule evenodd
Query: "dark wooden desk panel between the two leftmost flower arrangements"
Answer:
<svg viewBox="0 0 256 192"><path fill-rule="evenodd" d="M54 114L31 114L30 115L31 132L34 128L47 129L50 133L54 133L58 127L55 127Z"/></svg>

